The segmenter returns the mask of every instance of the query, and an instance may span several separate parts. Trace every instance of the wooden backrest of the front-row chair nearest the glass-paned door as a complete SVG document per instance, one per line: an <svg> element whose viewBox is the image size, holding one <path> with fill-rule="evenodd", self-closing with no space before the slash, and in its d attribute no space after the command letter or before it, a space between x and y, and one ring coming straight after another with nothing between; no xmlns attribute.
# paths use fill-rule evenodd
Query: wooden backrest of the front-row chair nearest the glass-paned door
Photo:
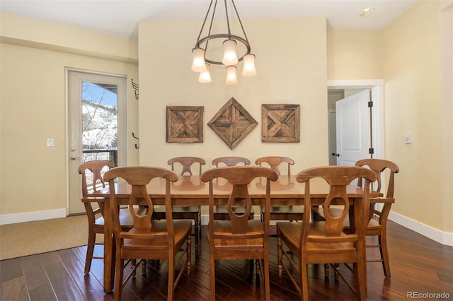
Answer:
<svg viewBox="0 0 453 301"><path fill-rule="evenodd" d="M114 179L124 179L129 184L131 189L130 199L128 207L132 218L134 219L134 228L129 232L121 232L120 218L117 210L117 201L115 194ZM113 233L115 234L115 240L121 238L132 238L140 240L149 240L156 235L151 235L151 216L154 211L154 204L149 197L149 191L147 191L147 184L154 178L166 179L166 220L167 220L167 232L162 232L158 235L168 235L168 239L173 239L173 218L171 214L171 191L170 182L176 182L178 175L171 170L166 170L159 167L116 167L104 174L104 180L110 184L110 214L113 216ZM147 211L137 211L134 206L137 205L137 201L145 202L140 203L141 205L148 206Z"/></svg>

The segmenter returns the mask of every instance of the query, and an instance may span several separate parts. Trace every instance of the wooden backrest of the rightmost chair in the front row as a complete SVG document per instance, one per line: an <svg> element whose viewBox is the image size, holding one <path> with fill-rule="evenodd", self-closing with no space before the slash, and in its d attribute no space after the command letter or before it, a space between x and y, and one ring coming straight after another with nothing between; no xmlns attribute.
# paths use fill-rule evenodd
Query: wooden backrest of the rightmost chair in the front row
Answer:
<svg viewBox="0 0 453 301"><path fill-rule="evenodd" d="M362 201L360 205L355 204L355 209L360 208L360 218L355 218L354 233L345 235L343 233L344 221L348 216L350 201L346 187L354 179L365 179L365 184L362 187ZM310 180L314 178L324 179L330 186L328 196L323 201L323 213L325 221L324 229L326 235L310 236L309 223L311 221L311 195L310 195ZM303 170L297 174L297 182L305 183L304 196L304 220L302 221L302 232L300 237L301 249L308 242L348 242L364 239L365 229L368 223L368 208L369 208L369 186L371 182L376 180L376 174L365 167L357 166L326 166L313 167ZM343 210L329 211L331 205L343 205ZM333 216L336 214L336 216ZM317 222L320 223L320 222Z"/></svg>

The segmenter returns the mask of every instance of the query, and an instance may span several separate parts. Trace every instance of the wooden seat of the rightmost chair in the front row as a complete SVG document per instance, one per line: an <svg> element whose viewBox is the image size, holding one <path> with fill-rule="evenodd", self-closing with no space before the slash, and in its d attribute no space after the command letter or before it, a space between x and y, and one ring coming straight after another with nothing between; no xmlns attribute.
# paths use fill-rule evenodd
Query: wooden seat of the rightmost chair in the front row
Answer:
<svg viewBox="0 0 453 301"><path fill-rule="evenodd" d="M309 235L325 236L325 222L310 223ZM299 248L300 233L302 231L302 223L277 223L277 229L280 231L280 236L285 237L285 242L291 244L291 247ZM345 235L342 233L342 235ZM323 253L338 253L338 252L356 252L353 242L307 242L306 252L323 252Z"/></svg>

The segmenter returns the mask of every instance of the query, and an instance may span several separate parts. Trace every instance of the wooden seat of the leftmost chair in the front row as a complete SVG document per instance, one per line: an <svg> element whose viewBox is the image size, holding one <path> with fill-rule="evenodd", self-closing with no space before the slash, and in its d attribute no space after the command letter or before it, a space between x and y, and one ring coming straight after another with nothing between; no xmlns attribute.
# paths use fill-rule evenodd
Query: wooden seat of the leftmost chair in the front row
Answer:
<svg viewBox="0 0 453 301"><path fill-rule="evenodd" d="M159 234L161 232L166 232L167 224L166 220L153 220L152 229L149 234ZM190 220L174 220L173 227L175 230L175 246L182 244L185 239L190 235L192 231L192 221ZM168 238L167 235L161 235L159 238L153 238L150 242L149 240L132 240L128 239L128 235L137 233L135 228L132 228L127 232L120 232L120 237L125 238L122 249L168 249Z"/></svg>

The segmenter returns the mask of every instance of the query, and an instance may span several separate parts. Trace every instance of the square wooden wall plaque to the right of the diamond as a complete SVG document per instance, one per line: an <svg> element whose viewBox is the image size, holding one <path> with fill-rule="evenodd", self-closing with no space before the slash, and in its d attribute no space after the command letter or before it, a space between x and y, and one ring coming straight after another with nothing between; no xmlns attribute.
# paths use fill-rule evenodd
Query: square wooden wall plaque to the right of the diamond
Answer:
<svg viewBox="0 0 453 301"><path fill-rule="evenodd" d="M261 141L300 141L300 105L262 105L261 118Z"/></svg>

